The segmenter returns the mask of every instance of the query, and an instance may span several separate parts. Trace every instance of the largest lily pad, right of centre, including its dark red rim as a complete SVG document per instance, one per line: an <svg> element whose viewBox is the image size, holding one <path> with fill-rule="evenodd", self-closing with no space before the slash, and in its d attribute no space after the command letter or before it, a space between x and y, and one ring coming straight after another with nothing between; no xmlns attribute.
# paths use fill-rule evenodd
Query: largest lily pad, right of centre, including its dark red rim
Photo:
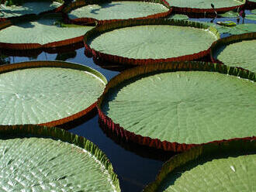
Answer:
<svg viewBox="0 0 256 192"><path fill-rule="evenodd" d="M255 80L226 67L190 62L128 70L107 85L100 118L126 139L165 150L255 135Z"/></svg>

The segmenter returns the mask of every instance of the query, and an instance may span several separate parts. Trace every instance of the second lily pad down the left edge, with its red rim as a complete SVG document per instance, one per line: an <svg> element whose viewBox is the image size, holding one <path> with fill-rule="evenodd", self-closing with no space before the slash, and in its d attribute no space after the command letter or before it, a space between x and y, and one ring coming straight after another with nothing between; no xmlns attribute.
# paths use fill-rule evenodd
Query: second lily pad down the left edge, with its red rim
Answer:
<svg viewBox="0 0 256 192"><path fill-rule="evenodd" d="M65 46L81 41L85 33L93 28L59 26L58 19L57 16L45 16L3 27L0 30L0 48L29 50Z"/></svg>

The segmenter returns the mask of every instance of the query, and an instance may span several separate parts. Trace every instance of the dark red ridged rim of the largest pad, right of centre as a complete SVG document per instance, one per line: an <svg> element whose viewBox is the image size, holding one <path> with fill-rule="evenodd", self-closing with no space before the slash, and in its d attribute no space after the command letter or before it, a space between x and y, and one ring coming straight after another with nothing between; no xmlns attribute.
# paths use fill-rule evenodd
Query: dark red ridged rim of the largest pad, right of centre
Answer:
<svg viewBox="0 0 256 192"><path fill-rule="evenodd" d="M178 143L178 142L168 142L161 141L160 139L152 139L150 137L137 135L134 132L127 131L119 124L112 121L103 111L102 111L102 102L108 94L109 90L113 87L116 87L118 84L121 84L123 81L127 81L134 77L139 77L140 75L145 74L159 74L161 72L175 72L175 71L210 71L218 72L220 74L229 74L236 77L245 78L251 81L256 81L256 74L249 70L238 69L237 67L228 67L219 63L205 63L205 62L196 62L196 61L182 61L182 62L170 62L170 63L154 63L150 65L142 65L139 67L134 67L130 70L125 70L123 73L118 74L116 77L113 77L108 84L106 84L105 90L102 96L97 102L97 108L99 112L99 124L102 129L109 129L109 131L118 135L121 139L126 141L135 142L142 146L150 146L157 149L163 149L164 151L174 151L182 152L188 149L191 149L194 146L200 146L201 144L187 144L187 143ZM237 139L237 138L234 138ZM226 140L234 139L223 139L215 140L206 143L220 143Z"/></svg>

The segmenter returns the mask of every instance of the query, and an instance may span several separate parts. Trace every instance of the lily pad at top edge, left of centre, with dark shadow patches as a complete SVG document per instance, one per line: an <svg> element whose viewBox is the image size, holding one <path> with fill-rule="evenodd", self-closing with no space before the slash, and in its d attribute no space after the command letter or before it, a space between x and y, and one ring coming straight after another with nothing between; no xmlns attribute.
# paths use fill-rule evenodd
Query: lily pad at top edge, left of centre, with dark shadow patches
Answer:
<svg viewBox="0 0 256 192"><path fill-rule="evenodd" d="M168 15L171 10L166 6L152 1L117 1L117 2L74 2L67 7L69 19L75 22L86 22L90 19L106 21L113 19L158 18Z"/></svg>

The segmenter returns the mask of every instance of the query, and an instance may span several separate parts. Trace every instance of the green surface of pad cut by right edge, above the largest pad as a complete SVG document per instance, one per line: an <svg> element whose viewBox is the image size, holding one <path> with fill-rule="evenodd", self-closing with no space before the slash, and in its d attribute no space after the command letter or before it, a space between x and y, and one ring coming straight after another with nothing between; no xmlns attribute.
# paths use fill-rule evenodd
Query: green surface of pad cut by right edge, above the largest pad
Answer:
<svg viewBox="0 0 256 192"><path fill-rule="evenodd" d="M220 46L213 57L226 65L242 67L256 73L256 39Z"/></svg>

